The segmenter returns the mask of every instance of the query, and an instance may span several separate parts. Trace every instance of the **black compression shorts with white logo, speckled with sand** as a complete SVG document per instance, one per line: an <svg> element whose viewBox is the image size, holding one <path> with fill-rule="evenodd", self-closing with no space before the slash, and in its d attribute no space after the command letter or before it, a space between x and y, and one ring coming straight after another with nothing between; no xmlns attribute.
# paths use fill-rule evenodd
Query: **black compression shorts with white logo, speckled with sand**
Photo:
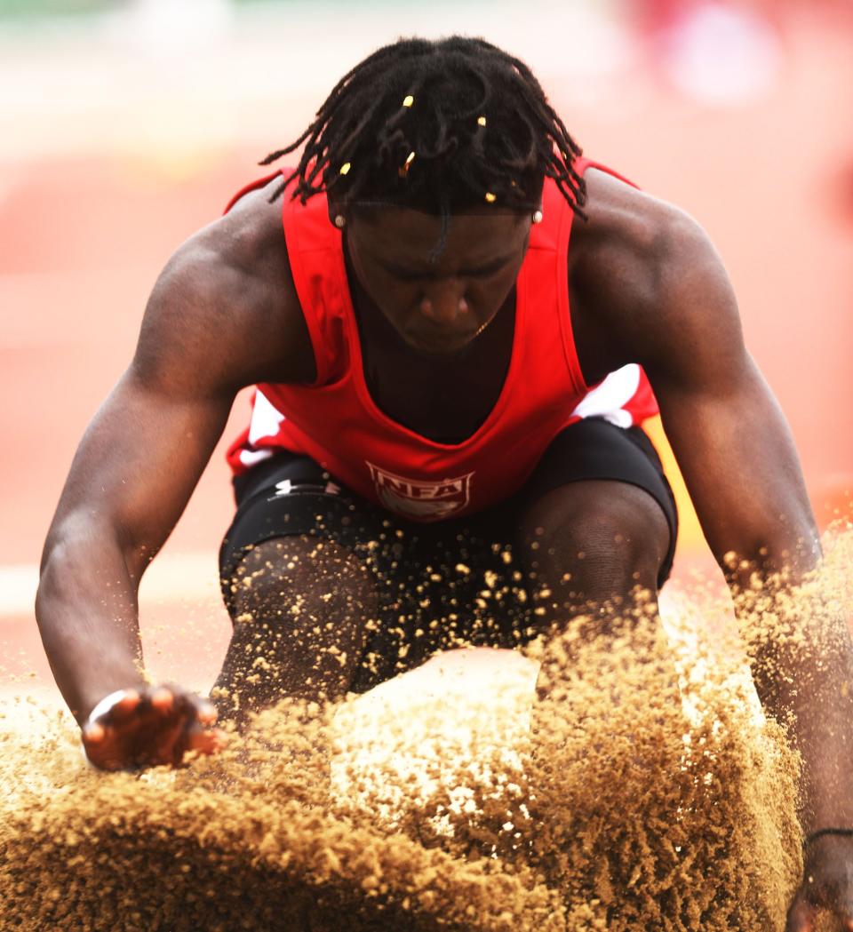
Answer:
<svg viewBox="0 0 853 932"><path fill-rule="evenodd" d="M246 551L273 538L310 534L363 558L378 582L378 625L353 691L461 643L517 647L535 635L529 593L512 557L518 517L530 501L584 479L638 486L660 505L670 531L658 579L663 585L672 569L678 514L660 459L640 428L586 418L557 435L516 494L485 512L432 524L379 508L313 459L277 453L234 480L237 514L219 555L227 608L233 617L231 589ZM494 594L502 591L499 603Z"/></svg>

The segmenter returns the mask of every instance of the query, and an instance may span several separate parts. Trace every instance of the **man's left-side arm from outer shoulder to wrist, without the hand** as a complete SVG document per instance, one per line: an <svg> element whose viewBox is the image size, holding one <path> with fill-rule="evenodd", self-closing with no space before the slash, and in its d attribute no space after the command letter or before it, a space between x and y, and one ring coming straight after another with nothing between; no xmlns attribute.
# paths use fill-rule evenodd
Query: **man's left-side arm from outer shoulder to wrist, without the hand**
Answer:
<svg viewBox="0 0 853 932"><path fill-rule="evenodd" d="M144 684L139 582L239 388L215 364L215 328L203 326L205 295L193 283L198 262L178 256L160 277L131 366L83 437L45 543L35 613L80 722L108 692Z"/></svg>

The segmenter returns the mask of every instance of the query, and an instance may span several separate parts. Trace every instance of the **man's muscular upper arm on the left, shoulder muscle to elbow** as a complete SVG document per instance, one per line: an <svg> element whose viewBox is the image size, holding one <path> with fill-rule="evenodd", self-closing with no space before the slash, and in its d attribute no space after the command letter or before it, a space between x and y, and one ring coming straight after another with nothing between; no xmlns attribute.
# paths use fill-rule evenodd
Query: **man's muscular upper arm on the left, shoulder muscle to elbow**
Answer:
<svg viewBox="0 0 853 932"><path fill-rule="evenodd" d="M213 320L212 320L213 318ZM48 535L108 535L138 575L166 540L240 388L207 296L161 276L133 361L77 449Z"/></svg>

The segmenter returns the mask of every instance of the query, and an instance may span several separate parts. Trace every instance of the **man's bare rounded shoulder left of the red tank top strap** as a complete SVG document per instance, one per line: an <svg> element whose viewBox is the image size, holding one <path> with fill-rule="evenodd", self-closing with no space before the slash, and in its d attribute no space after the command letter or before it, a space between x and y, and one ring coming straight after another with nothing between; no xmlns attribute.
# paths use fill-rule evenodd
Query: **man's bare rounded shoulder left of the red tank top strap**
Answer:
<svg viewBox="0 0 853 932"><path fill-rule="evenodd" d="M268 188L251 192L172 254L145 309L138 369L198 363L235 389L310 381L310 339L287 259L282 203L268 197Z"/></svg>

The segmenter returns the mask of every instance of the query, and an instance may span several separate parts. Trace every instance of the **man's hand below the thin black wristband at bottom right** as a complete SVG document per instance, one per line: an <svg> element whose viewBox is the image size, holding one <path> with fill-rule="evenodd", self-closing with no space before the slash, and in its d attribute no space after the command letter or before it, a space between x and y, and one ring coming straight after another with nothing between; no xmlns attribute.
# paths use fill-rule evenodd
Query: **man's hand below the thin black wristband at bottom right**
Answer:
<svg viewBox="0 0 853 932"><path fill-rule="evenodd" d="M813 932L822 911L853 932L853 838L824 835L808 845L804 880L788 911L785 932Z"/></svg>

